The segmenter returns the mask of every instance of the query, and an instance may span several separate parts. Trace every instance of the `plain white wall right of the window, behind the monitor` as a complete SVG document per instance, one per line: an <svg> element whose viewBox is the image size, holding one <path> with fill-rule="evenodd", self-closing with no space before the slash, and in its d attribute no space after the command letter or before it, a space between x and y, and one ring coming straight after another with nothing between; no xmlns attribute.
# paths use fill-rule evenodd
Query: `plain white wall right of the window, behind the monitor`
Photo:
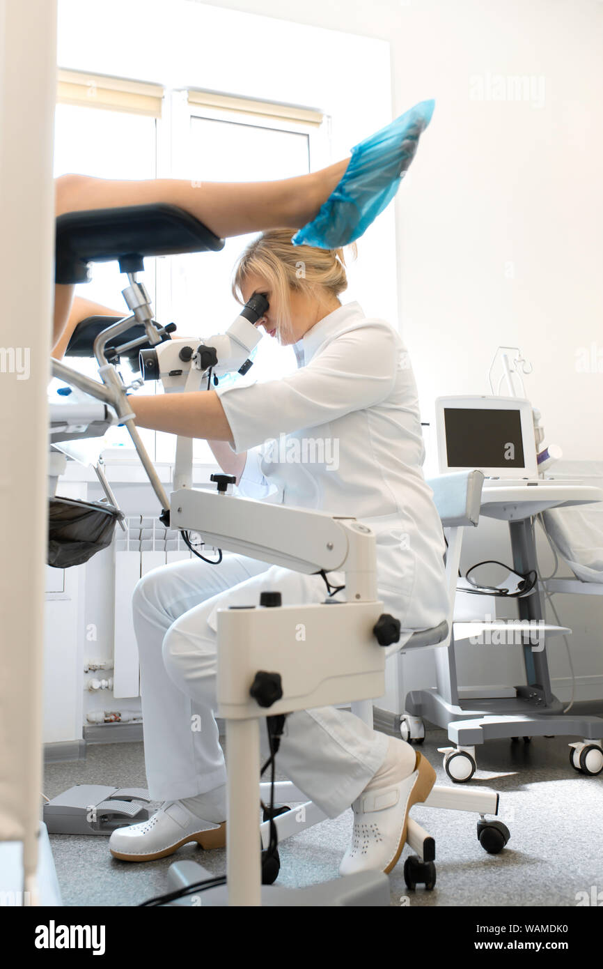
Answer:
<svg viewBox="0 0 603 969"><path fill-rule="evenodd" d="M526 390L542 413L548 443L559 444L567 458L600 459L603 3L216 0L214 6L389 41L394 115L436 99L395 203L398 323L423 420L432 420L439 394L490 392L497 346L519 345L533 364ZM313 71L297 58L294 73L311 78ZM358 74L362 65L353 64L342 88ZM431 433L426 437L429 447ZM433 455L427 467L435 469ZM508 561L506 526L486 521L469 537L465 567L497 552ZM491 610L492 601L485 602ZM600 696L603 601L563 596L557 608L574 629L577 695ZM519 657L466 652L459 650L463 685L519 681ZM560 640L551 645L550 663L555 689L568 697ZM433 675L426 656L407 657L405 671L413 681L408 687Z"/></svg>

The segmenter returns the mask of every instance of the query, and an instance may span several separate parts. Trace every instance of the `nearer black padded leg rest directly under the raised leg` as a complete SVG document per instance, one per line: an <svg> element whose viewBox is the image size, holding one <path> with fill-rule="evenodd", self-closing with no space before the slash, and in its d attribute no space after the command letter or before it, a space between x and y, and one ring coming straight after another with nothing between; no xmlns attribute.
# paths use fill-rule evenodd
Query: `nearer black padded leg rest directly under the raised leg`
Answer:
<svg viewBox="0 0 603 969"><path fill-rule="evenodd" d="M138 272L145 256L219 252L218 238L177 205L128 205L66 212L56 220L55 282L88 282L88 263L117 260L122 272Z"/></svg>

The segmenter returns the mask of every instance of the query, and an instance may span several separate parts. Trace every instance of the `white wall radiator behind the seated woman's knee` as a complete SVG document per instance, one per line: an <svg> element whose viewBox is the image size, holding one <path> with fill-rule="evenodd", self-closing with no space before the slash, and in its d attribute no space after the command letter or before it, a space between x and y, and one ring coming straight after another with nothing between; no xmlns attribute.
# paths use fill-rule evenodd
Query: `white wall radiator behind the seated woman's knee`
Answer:
<svg viewBox="0 0 603 969"><path fill-rule="evenodd" d="M138 650L132 619L136 582L152 569L191 558L179 531L166 529L157 518L130 516L127 531L115 530L115 635L113 696L140 695ZM194 535L191 536L193 541Z"/></svg>

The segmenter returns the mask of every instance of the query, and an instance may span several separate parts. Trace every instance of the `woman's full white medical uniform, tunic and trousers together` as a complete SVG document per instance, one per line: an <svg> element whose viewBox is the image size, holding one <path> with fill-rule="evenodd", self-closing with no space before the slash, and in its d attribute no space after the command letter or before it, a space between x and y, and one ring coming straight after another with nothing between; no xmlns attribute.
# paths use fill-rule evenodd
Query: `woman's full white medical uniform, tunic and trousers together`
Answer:
<svg viewBox="0 0 603 969"><path fill-rule="evenodd" d="M298 369L291 375L218 389L234 451L247 451L240 492L262 498L272 491L287 505L370 524L385 610L407 631L436 626L446 615L444 542L421 471L417 393L400 336L352 302L294 349ZM334 584L341 578L333 576ZM217 568L198 559L173 563L136 586L151 797L194 797L225 782L214 719L217 610L256 603L263 589L280 591L284 605L318 603L325 595L318 576L241 555L226 556ZM385 735L347 711L321 707L287 717L278 760L336 817L371 780L386 750Z"/></svg>

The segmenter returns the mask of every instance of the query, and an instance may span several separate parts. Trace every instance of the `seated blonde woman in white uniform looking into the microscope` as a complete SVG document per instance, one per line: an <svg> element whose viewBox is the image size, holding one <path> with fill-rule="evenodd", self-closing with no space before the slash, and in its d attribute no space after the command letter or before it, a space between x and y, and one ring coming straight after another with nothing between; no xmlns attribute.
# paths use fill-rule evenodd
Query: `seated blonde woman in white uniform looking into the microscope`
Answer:
<svg viewBox="0 0 603 969"><path fill-rule="evenodd" d="M245 496L262 498L276 488L286 505L369 524L377 534L379 597L408 637L441 622L446 594L444 542L422 474L407 351L389 324L367 318L357 302L340 301L347 288L343 250L293 245L291 235L273 229L258 236L236 266L233 292L242 303L255 293L267 297L258 325L293 346L297 370L247 387L133 396L136 424L207 439ZM304 438L322 442L324 460L308 459ZM216 616L257 603L262 590L280 591L284 605L323 602L326 592L320 576L243 555L218 567L177 562L139 581L134 616L146 772L151 797L163 804L148 822L113 831L115 858L159 859L189 841L224 845ZM200 730L192 729L199 722ZM342 874L394 867L409 807L428 796L436 779L409 744L329 707L286 718L278 764L329 817L352 805Z"/></svg>

